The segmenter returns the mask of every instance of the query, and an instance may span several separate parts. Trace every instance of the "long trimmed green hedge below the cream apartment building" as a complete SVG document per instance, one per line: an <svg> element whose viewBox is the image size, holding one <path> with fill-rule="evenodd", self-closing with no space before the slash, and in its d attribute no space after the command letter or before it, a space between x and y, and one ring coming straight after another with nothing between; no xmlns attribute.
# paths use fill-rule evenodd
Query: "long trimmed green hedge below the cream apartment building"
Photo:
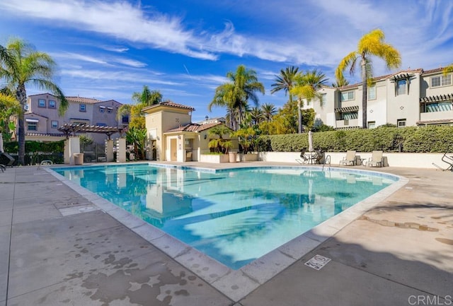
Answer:
<svg viewBox="0 0 453 306"><path fill-rule="evenodd" d="M297 152L308 148L308 134L264 135L260 151ZM371 152L442 153L453 151L453 126L379 127L313 133L314 148L328 152L355 150Z"/></svg>

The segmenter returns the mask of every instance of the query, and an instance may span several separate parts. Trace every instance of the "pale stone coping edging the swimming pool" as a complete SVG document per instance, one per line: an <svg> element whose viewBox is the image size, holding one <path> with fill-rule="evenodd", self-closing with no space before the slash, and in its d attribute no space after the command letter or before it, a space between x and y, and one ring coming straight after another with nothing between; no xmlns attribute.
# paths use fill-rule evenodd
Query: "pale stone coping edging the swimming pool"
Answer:
<svg viewBox="0 0 453 306"><path fill-rule="evenodd" d="M145 162L146 163L146 162ZM192 167L188 165L168 165L168 164L157 164L147 163L157 167L171 167L176 169L190 169L190 170L237 170L241 168L304 168L298 165L261 165L261 166L247 166L247 167L225 167L222 169L212 169L205 167ZM118 164L115 164L118 165ZM120 164L124 165L124 164ZM83 167L90 166L84 165ZM302 259L306 254L311 252L313 249L321 245L323 242L333 237L340 230L345 228L348 224L363 215L363 213L369 211L371 208L384 201L388 196L394 194L398 189L401 189L408 183L406 177L393 175L386 172L375 172L370 170L356 170L356 169L345 169L342 167L331 167L331 169L341 170L345 172L372 172L374 175L379 176L385 175L389 177L396 177L398 181L390 184L389 186L381 189L379 192L372 194L372 196L357 202L354 206L346 209L345 211L338 213L336 216L323 221L319 225L316 225L311 230L295 237L294 239L286 242L284 245L273 249L246 266L241 267L238 270L230 269L229 267L221 264L219 261L208 257L206 254L198 251L197 249L186 245L184 242L164 233L159 228L146 223L144 220L133 216L124 209L116 206L110 201L103 199L101 196L90 192L88 189L81 187L79 184L71 182L66 177L59 175L54 167L44 168L46 172L53 175L62 183L66 184L69 188L75 192L84 196L88 201L93 203L101 211L108 213L110 216L115 218L118 222L125 225L125 227L132 230L134 233L147 240L151 245L154 245L157 249L164 252L169 257L181 264L185 269L195 273L198 277L202 278L213 286L219 292L223 293L227 298L230 298L234 302L239 302L246 295L251 293L253 290L269 281L271 278L276 276L278 273L287 269L288 266L294 264L299 259ZM70 167L73 168L73 167ZM307 167L314 170L315 167ZM319 168L319 167L318 167ZM324 170L327 171L327 170Z"/></svg>

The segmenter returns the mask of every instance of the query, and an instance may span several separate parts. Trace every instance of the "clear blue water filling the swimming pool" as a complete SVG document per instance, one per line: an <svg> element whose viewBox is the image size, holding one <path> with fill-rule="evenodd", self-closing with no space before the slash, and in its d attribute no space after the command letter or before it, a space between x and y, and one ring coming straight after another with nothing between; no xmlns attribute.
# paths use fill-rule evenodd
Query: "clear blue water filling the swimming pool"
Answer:
<svg viewBox="0 0 453 306"><path fill-rule="evenodd" d="M54 168L231 269L262 257L398 180L302 167Z"/></svg>

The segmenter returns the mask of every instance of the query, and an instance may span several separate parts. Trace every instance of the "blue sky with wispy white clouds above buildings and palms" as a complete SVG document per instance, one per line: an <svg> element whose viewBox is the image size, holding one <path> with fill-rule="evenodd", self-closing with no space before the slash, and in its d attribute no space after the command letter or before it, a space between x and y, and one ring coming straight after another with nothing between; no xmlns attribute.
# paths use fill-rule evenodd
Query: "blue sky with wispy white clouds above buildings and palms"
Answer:
<svg viewBox="0 0 453 306"><path fill-rule="evenodd" d="M320 69L331 84L340 59L374 28L401 52L400 70L451 64L452 8L449 0L2 0L0 44L21 37L52 55L65 95L130 103L147 85L195 107L196 122L224 115L207 105L240 64L264 84L260 103L281 107L285 94L270 95L280 69ZM375 76L391 72L373 63Z"/></svg>

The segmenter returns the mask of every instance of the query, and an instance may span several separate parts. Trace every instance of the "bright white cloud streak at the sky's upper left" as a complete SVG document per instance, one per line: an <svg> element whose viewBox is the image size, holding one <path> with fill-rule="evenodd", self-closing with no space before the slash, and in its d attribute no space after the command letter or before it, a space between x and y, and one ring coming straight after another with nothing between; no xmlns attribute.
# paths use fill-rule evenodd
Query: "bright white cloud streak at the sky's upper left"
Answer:
<svg viewBox="0 0 453 306"><path fill-rule="evenodd" d="M52 20L55 24L60 22L60 26L64 22L67 27L141 42L189 57L217 59L210 52L191 47L197 45L198 38L183 28L178 17L158 12L145 16L139 7L126 1L11 0L1 1L0 8L19 16Z"/></svg>

